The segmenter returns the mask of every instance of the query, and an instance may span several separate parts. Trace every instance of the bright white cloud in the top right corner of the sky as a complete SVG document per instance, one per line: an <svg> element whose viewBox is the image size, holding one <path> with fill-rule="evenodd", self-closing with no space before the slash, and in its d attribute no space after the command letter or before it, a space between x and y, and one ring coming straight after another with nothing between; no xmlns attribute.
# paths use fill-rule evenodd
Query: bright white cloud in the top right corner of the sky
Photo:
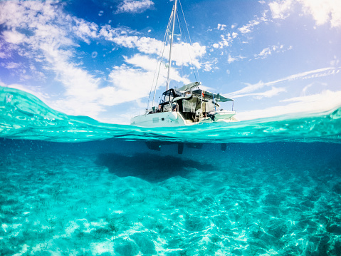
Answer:
<svg viewBox="0 0 341 256"><path fill-rule="evenodd" d="M284 0L269 4L273 19L285 19L292 13L295 4L300 4L304 14L313 16L316 25L330 23L331 27L341 26L340 0Z"/></svg>

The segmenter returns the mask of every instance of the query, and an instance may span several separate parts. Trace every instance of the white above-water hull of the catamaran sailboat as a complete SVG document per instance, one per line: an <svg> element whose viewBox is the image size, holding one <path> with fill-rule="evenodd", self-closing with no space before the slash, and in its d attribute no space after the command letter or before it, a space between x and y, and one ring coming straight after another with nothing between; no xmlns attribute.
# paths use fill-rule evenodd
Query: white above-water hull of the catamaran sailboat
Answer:
<svg viewBox="0 0 341 256"><path fill-rule="evenodd" d="M217 122L236 122L238 119L234 117L236 111L214 111L208 117L201 118L201 121L194 122L186 120L179 112L159 112L135 116L130 120L132 126L142 127L177 127L177 126L194 126L199 123L217 123Z"/></svg>

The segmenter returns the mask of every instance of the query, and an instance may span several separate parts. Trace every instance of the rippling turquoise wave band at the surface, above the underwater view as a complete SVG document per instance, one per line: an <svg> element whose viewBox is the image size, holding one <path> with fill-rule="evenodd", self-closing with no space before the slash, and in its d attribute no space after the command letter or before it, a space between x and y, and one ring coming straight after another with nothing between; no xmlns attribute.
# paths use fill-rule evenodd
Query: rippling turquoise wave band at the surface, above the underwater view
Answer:
<svg viewBox="0 0 341 256"><path fill-rule="evenodd" d="M0 86L3 138L84 142L121 138L189 143L341 142L341 105L325 113L295 114L238 123L184 128L139 128L67 116L29 93Z"/></svg>

